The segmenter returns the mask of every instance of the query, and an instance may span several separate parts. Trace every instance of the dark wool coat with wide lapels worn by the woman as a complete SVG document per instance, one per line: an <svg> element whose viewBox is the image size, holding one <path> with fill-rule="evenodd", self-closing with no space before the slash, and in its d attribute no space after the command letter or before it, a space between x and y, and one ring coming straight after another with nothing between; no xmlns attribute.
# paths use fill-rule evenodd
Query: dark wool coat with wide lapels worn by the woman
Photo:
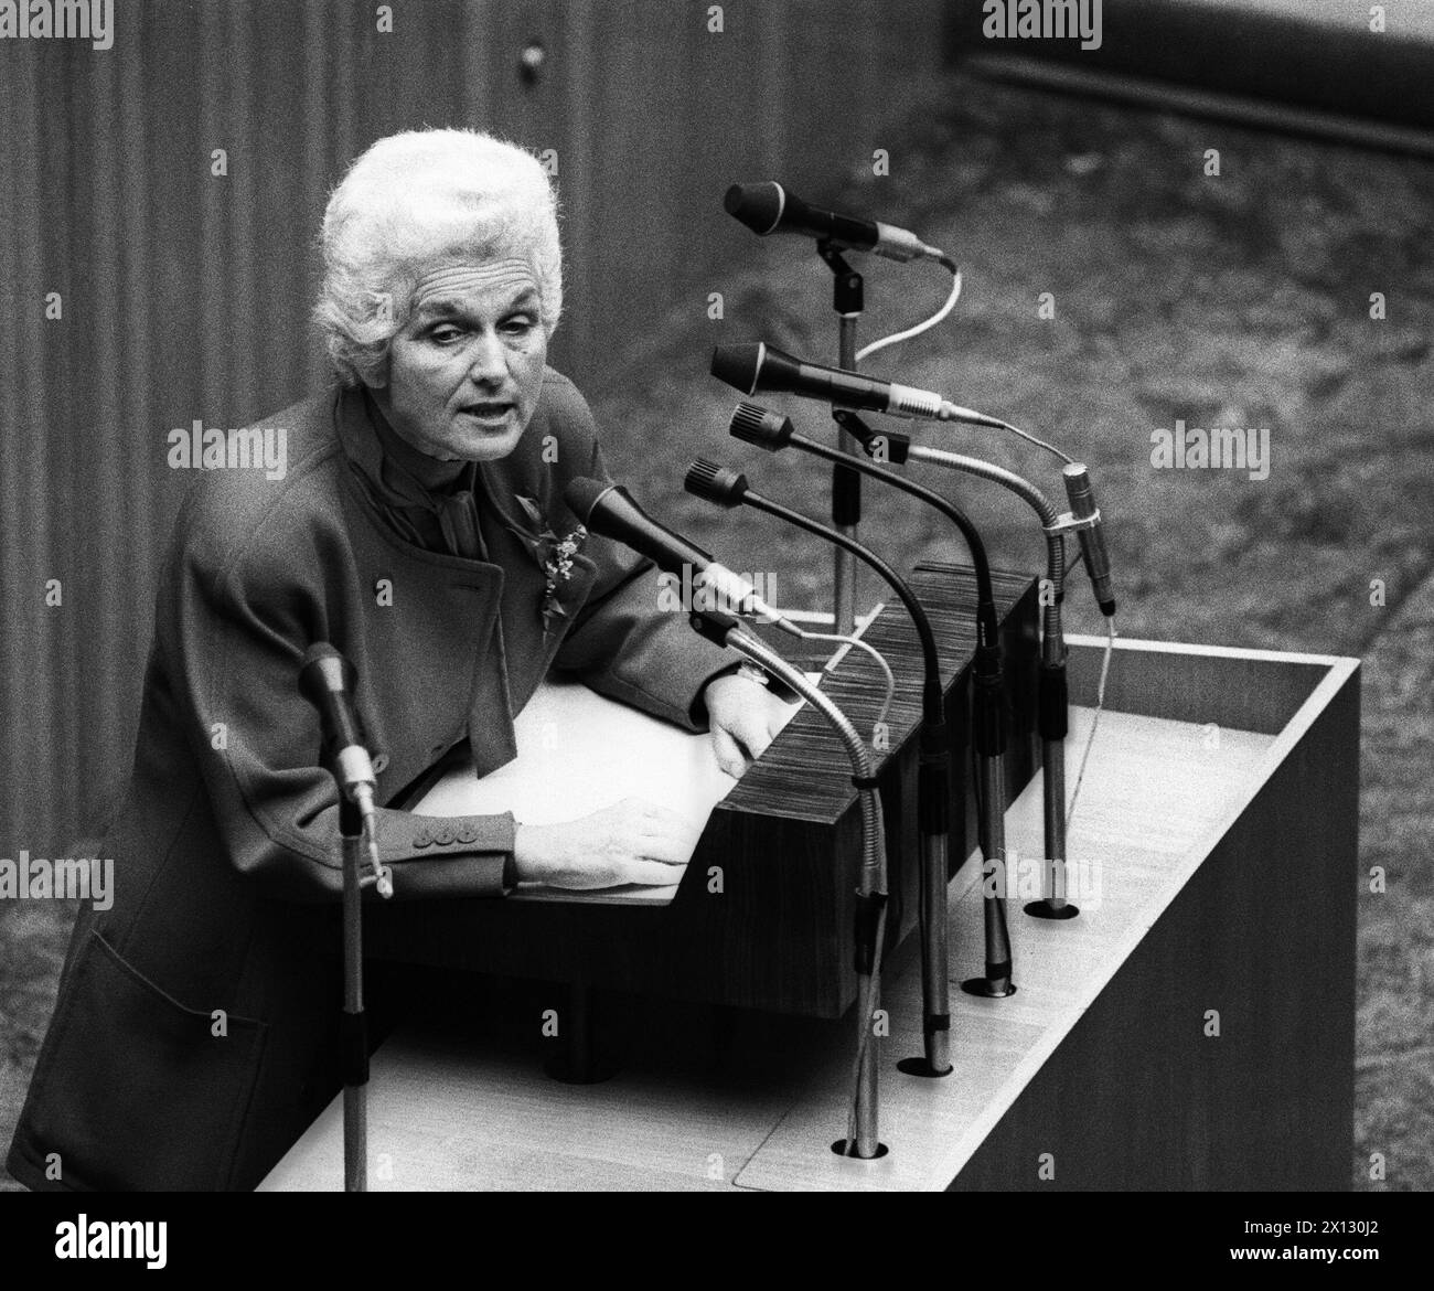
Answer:
<svg viewBox="0 0 1434 1291"><path fill-rule="evenodd" d="M489 561L393 535L356 466L374 450L361 394L265 425L288 432L285 478L205 472L175 525L102 853L113 907L76 924L7 1159L30 1188L252 1188L331 1097L337 793L295 687L313 641L357 668L383 803L409 802L465 739L479 776L509 762L512 716L549 666L698 730L703 684L734 661L658 610L650 564L598 536L545 631L542 552L515 499L562 538L578 525L568 481L605 473L565 377L546 374L518 449L479 468ZM500 895L512 841L511 815L380 813L396 901Z"/></svg>

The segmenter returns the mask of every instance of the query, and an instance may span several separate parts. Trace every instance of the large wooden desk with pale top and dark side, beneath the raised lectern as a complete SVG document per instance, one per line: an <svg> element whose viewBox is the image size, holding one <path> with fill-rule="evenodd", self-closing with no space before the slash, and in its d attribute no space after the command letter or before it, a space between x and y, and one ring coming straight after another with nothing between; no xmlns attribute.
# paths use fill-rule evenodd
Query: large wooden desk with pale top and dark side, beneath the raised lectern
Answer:
<svg viewBox="0 0 1434 1291"><path fill-rule="evenodd" d="M1071 643L1071 786L1101 648ZM896 1070L921 1051L915 938L893 954L879 1160L830 1150L850 1026L822 1016L820 991L803 988L807 1017L625 997L621 1070L582 1086L543 1076L561 1041L525 997L379 1049L371 1186L1347 1188L1358 683L1349 658L1117 643L1071 825L1081 914L1041 922L1012 894L1018 993L954 993L941 1080ZM1040 792L1037 777L1008 812L1017 885L1040 872L1021 865L1041 855ZM981 965L979 878L965 865L951 885L954 983ZM728 974L763 994L753 964L714 965ZM336 1102L262 1186L336 1189L341 1163Z"/></svg>

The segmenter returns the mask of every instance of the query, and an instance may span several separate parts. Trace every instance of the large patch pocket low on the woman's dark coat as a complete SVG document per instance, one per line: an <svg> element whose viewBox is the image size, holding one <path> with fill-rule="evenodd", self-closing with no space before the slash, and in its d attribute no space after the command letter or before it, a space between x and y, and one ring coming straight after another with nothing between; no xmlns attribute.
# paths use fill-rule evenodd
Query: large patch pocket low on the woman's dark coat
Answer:
<svg viewBox="0 0 1434 1291"><path fill-rule="evenodd" d="M23 1126L72 1188L231 1185L267 1026L229 1013L224 1036L141 975L98 932L80 951L36 1064Z"/></svg>

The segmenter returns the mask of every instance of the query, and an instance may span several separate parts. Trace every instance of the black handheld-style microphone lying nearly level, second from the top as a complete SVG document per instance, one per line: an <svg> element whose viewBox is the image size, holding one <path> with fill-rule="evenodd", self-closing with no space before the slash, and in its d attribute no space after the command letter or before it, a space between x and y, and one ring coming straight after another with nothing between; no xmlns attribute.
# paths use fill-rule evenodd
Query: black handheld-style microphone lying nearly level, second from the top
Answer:
<svg viewBox="0 0 1434 1291"><path fill-rule="evenodd" d="M862 407L935 422L967 422L972 426L1004 429L1004 423L969 407L958 407L935 390L919 390L875 377L806 363L764 341L741 346L717 346L713 350L711 374L743 394L786 392L807 399L822 399L843 407Z"/></svg>

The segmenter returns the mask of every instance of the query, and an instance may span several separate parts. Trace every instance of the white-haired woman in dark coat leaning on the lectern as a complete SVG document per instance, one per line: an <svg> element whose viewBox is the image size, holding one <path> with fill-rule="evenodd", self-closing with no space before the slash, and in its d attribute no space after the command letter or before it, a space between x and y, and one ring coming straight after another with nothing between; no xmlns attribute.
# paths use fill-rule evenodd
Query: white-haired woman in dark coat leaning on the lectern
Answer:
<svg viewBox="0 0 1434 1291"><path fill-rule="evenodd" d="M690 730L740 775L779 703L658 608L644 561L564 502L604 476L546 366L556 202L467 131L374 143L334 191L317 307L337 382L265 425L282 478L205 472L161 577L132 779L82 911L7 1165L30 1188L252 1188L337 1089L337 790L304 651L356 666L379 800L512 760L545 673ZM671 882L683 826L625 802L566 825L380 809L396 899Z"/></svg>

